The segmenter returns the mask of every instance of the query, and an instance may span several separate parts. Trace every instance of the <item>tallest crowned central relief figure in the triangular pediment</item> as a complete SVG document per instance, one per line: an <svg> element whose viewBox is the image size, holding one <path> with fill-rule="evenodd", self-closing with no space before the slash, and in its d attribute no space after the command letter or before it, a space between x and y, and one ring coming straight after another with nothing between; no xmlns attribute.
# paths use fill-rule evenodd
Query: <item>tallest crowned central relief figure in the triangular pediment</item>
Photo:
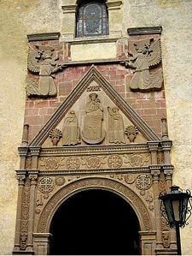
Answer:
<svg viewBox="0 0 192 256"><path fill-rule="evenodd" d="M90 93L90 101L86 104L85 112L82 139L88 144L102 142L105 137L105 132L102 130L103 108L95 92Z"/></svg>

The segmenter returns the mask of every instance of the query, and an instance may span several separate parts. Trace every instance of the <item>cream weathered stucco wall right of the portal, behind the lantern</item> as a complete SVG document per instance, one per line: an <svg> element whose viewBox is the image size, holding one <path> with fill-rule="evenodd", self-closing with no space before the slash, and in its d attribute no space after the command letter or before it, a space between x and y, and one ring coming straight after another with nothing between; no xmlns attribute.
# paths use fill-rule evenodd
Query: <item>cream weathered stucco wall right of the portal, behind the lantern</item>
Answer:
<svg viewBox="0 0 192 256"><path fill-rule="evenodd" d="M190 0L129 0L124 27L162 26L162 62L168 130L174 165L173 183L192 189L192 30ZM181 229L183 254L192 254L192 219Z"/></svg>

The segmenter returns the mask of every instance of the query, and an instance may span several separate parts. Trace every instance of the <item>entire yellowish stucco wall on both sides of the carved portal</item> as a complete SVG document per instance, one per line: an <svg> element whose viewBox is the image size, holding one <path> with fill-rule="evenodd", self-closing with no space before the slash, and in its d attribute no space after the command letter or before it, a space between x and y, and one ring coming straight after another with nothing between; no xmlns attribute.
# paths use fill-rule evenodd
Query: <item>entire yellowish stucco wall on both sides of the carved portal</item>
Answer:
<svg viewBox="0 0 192 256"><path fill-rule="evenodd" d="M10 254L15 236L17 182L15 170L25 107L26 34L59 32L56 0L0 2L0 253ZM124 0L127 27L162 26L162 62L170 139L173 140L173 181L192 189L192 0ZM117 20L117 19L116 19ZM121 26L119 26L121 27ZM108 51L106 48L105 51ZM182 230L183 254L192 254L192 219Z"/></svg>

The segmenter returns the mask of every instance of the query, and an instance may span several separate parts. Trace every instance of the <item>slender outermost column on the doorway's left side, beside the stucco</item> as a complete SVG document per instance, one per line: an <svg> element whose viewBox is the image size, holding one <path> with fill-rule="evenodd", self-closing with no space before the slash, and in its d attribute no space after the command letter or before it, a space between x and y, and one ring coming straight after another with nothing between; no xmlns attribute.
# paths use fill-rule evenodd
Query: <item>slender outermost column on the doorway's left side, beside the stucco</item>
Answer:
<svg viewBox="0 0 192 256"><path fill-rule="evenodd" d="M20 224L22 211L22 193L25 185L26 170L16 170L18 180L18 199L17 199L17 214L16 214L16 228L15 228L15 247L14 252L20 251Z"/></svg>

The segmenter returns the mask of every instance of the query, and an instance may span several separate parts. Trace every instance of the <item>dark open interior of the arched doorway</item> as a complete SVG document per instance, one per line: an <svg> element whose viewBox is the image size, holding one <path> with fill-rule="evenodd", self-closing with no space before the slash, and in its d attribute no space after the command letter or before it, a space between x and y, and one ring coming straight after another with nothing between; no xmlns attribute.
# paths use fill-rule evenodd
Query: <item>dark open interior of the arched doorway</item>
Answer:
<svg viewBox="0 0 192 256"><path fill-rule="evenodd" d="M139 230L125 199L107 190L84 190L55 212L50 254L139 254Z"/></svg>

